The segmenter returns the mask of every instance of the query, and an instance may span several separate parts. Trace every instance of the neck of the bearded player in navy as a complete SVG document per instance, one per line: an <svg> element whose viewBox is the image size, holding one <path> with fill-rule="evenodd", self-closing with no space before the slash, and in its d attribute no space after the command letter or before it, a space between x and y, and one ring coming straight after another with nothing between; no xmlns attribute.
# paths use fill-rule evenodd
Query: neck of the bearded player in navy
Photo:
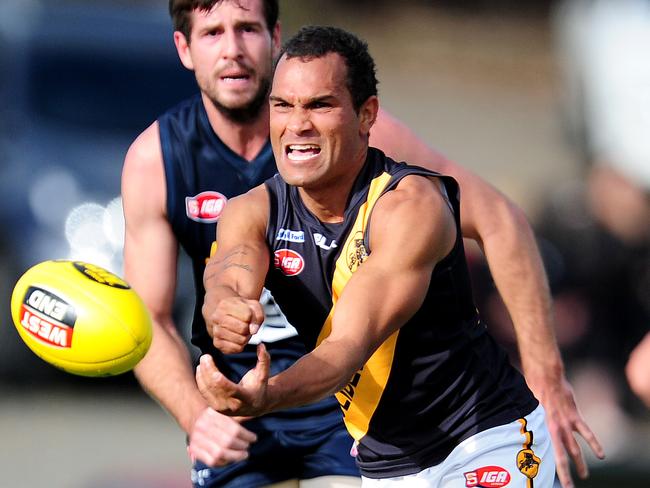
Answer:
<svg viewBox="0 0 650 488"><path fill-rule="evenodd" d="M236 122L219 111L205 94L201 95L208 120L219 139L247 161L253 160L269 138L269 106L263 104L260 113L245 123Z"/></svg>

